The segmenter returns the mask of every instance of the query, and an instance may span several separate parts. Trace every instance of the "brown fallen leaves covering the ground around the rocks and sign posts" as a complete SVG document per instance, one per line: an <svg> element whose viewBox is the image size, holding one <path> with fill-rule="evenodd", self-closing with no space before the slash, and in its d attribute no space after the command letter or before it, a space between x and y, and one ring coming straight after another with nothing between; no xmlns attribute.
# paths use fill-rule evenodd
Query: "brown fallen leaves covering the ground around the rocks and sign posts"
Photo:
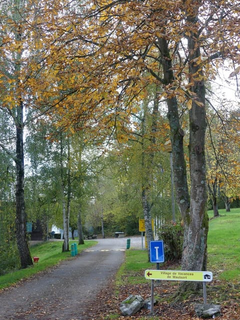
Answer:
<svg viewBox="0 0 240 320"><path fill-rule="evenodd" d="M153 315L150 310L142 308L132 316L123 316L120 313L120 302L130 294L141 295L144 299L150 297L150 282L142 284L127 284L120 287L110 285L101 290L89 310L88 320L107 320L107 319L124 319L124 320L199 320L194 311L194 305L203 303L202 292L191 295L181 302L170 303L170 297L177 290L178 282L159 281L154 285L154 295L158 296L158 301L153 308ZM116 293L117 289L117 293ZM240 284L227 283L225 281L213 280L207 284L207 303L221 305L220 320L238 320L240 314Z"/></svg>

